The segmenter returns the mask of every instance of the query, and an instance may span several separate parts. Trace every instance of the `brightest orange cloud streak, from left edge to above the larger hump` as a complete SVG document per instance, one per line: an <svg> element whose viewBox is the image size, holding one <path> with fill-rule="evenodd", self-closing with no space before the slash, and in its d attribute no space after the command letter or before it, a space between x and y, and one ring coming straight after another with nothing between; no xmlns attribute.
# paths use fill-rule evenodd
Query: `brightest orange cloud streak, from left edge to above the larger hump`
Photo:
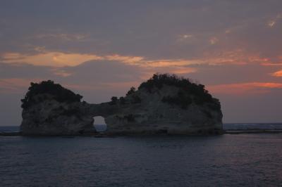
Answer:
<svg viewBox="0 0 282 187"><path fill-rule="evenodd" d="M21 53L4 53L1 56L4 63L27 63L32 65L44 65L51 67L77 66L89 60L116 60L128 65L140 67L173 67L206 63L205 60L147 60L142 56L121 56L118 54L109 56L97 56L94 54L44 52L35 55ZM59 75L59 72L56 72Z"/></svg>

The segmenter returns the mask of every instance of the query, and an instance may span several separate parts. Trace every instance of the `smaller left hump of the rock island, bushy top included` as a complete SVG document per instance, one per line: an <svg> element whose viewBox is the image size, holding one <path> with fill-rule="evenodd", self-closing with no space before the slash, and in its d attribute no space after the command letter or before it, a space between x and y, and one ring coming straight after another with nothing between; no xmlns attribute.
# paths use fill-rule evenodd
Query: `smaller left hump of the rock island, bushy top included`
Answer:
<svg viewBox="0 0 282 187"><path fill-rule="evenodd" d="M31 83L22 99L24 135L83 134L94 131L92 116L83 111L82 96L47 81Z"/></svg>

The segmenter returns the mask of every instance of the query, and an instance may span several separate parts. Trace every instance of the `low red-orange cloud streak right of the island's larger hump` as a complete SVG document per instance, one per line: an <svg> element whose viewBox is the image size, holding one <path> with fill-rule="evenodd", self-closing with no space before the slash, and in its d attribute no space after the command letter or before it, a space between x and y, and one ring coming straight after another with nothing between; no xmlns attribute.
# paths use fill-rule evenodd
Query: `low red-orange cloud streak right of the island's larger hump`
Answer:
<svg viewBox="0 0 282 187"><path fill-rule="evenodd" d="M207 86L211 93L242 95L268 93L269 89L282 89L282 83L274 82L245 82L238 84L219 84Z"/></svg>

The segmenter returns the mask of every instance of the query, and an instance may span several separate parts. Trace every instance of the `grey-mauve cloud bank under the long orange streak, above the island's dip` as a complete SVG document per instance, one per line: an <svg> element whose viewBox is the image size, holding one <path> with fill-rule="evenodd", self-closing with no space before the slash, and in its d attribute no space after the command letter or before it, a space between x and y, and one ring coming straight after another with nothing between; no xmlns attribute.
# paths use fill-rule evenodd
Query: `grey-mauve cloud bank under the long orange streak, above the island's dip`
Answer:
<svg viewBox="0 0 282 187"><path fill-rule="evenodd" d="M111 60L89 60L76 66L41 66L26 63L0 63L0 79L42 80L53 79L63 84L80 85L76 88L88 87L109 88L114 85L129 85L142 82L155 72L171 72L187 74L195 72L195 67L182 66L142 66L135 65L136 58L130 56L106 56ZM123 61L118 61L123 60ZM133 64L132 64L133 63ZM26 81L29 82L29 81ZM19 84L19 89L22 88ZM124 86L122 86L124 88ZM114 87L113 87L114 89Z"/></svg>

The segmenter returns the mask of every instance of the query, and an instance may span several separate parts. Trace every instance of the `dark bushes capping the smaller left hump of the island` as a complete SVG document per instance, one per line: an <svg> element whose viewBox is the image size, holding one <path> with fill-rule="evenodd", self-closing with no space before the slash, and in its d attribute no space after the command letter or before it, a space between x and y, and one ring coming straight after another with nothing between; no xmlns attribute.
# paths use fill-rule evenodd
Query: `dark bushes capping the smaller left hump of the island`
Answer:
<svg viewBox="0 0 282 187"><path fill-rule="evenodd" d="M30 87L28 88L27 93L25 94L25 98L22 101L22 108L28 108L32 103L37 103L46 99L45 96L38 97L35 99L35 96L39 94L50 94L56 101L59 102L66 102L66 103L73 103L73 102L80 102L82 96L79 94L73 93L73 91L69 89L63 88L60 84L55 84L53 81L42 81L39 84L37 83L30 83Z"/></svg>

